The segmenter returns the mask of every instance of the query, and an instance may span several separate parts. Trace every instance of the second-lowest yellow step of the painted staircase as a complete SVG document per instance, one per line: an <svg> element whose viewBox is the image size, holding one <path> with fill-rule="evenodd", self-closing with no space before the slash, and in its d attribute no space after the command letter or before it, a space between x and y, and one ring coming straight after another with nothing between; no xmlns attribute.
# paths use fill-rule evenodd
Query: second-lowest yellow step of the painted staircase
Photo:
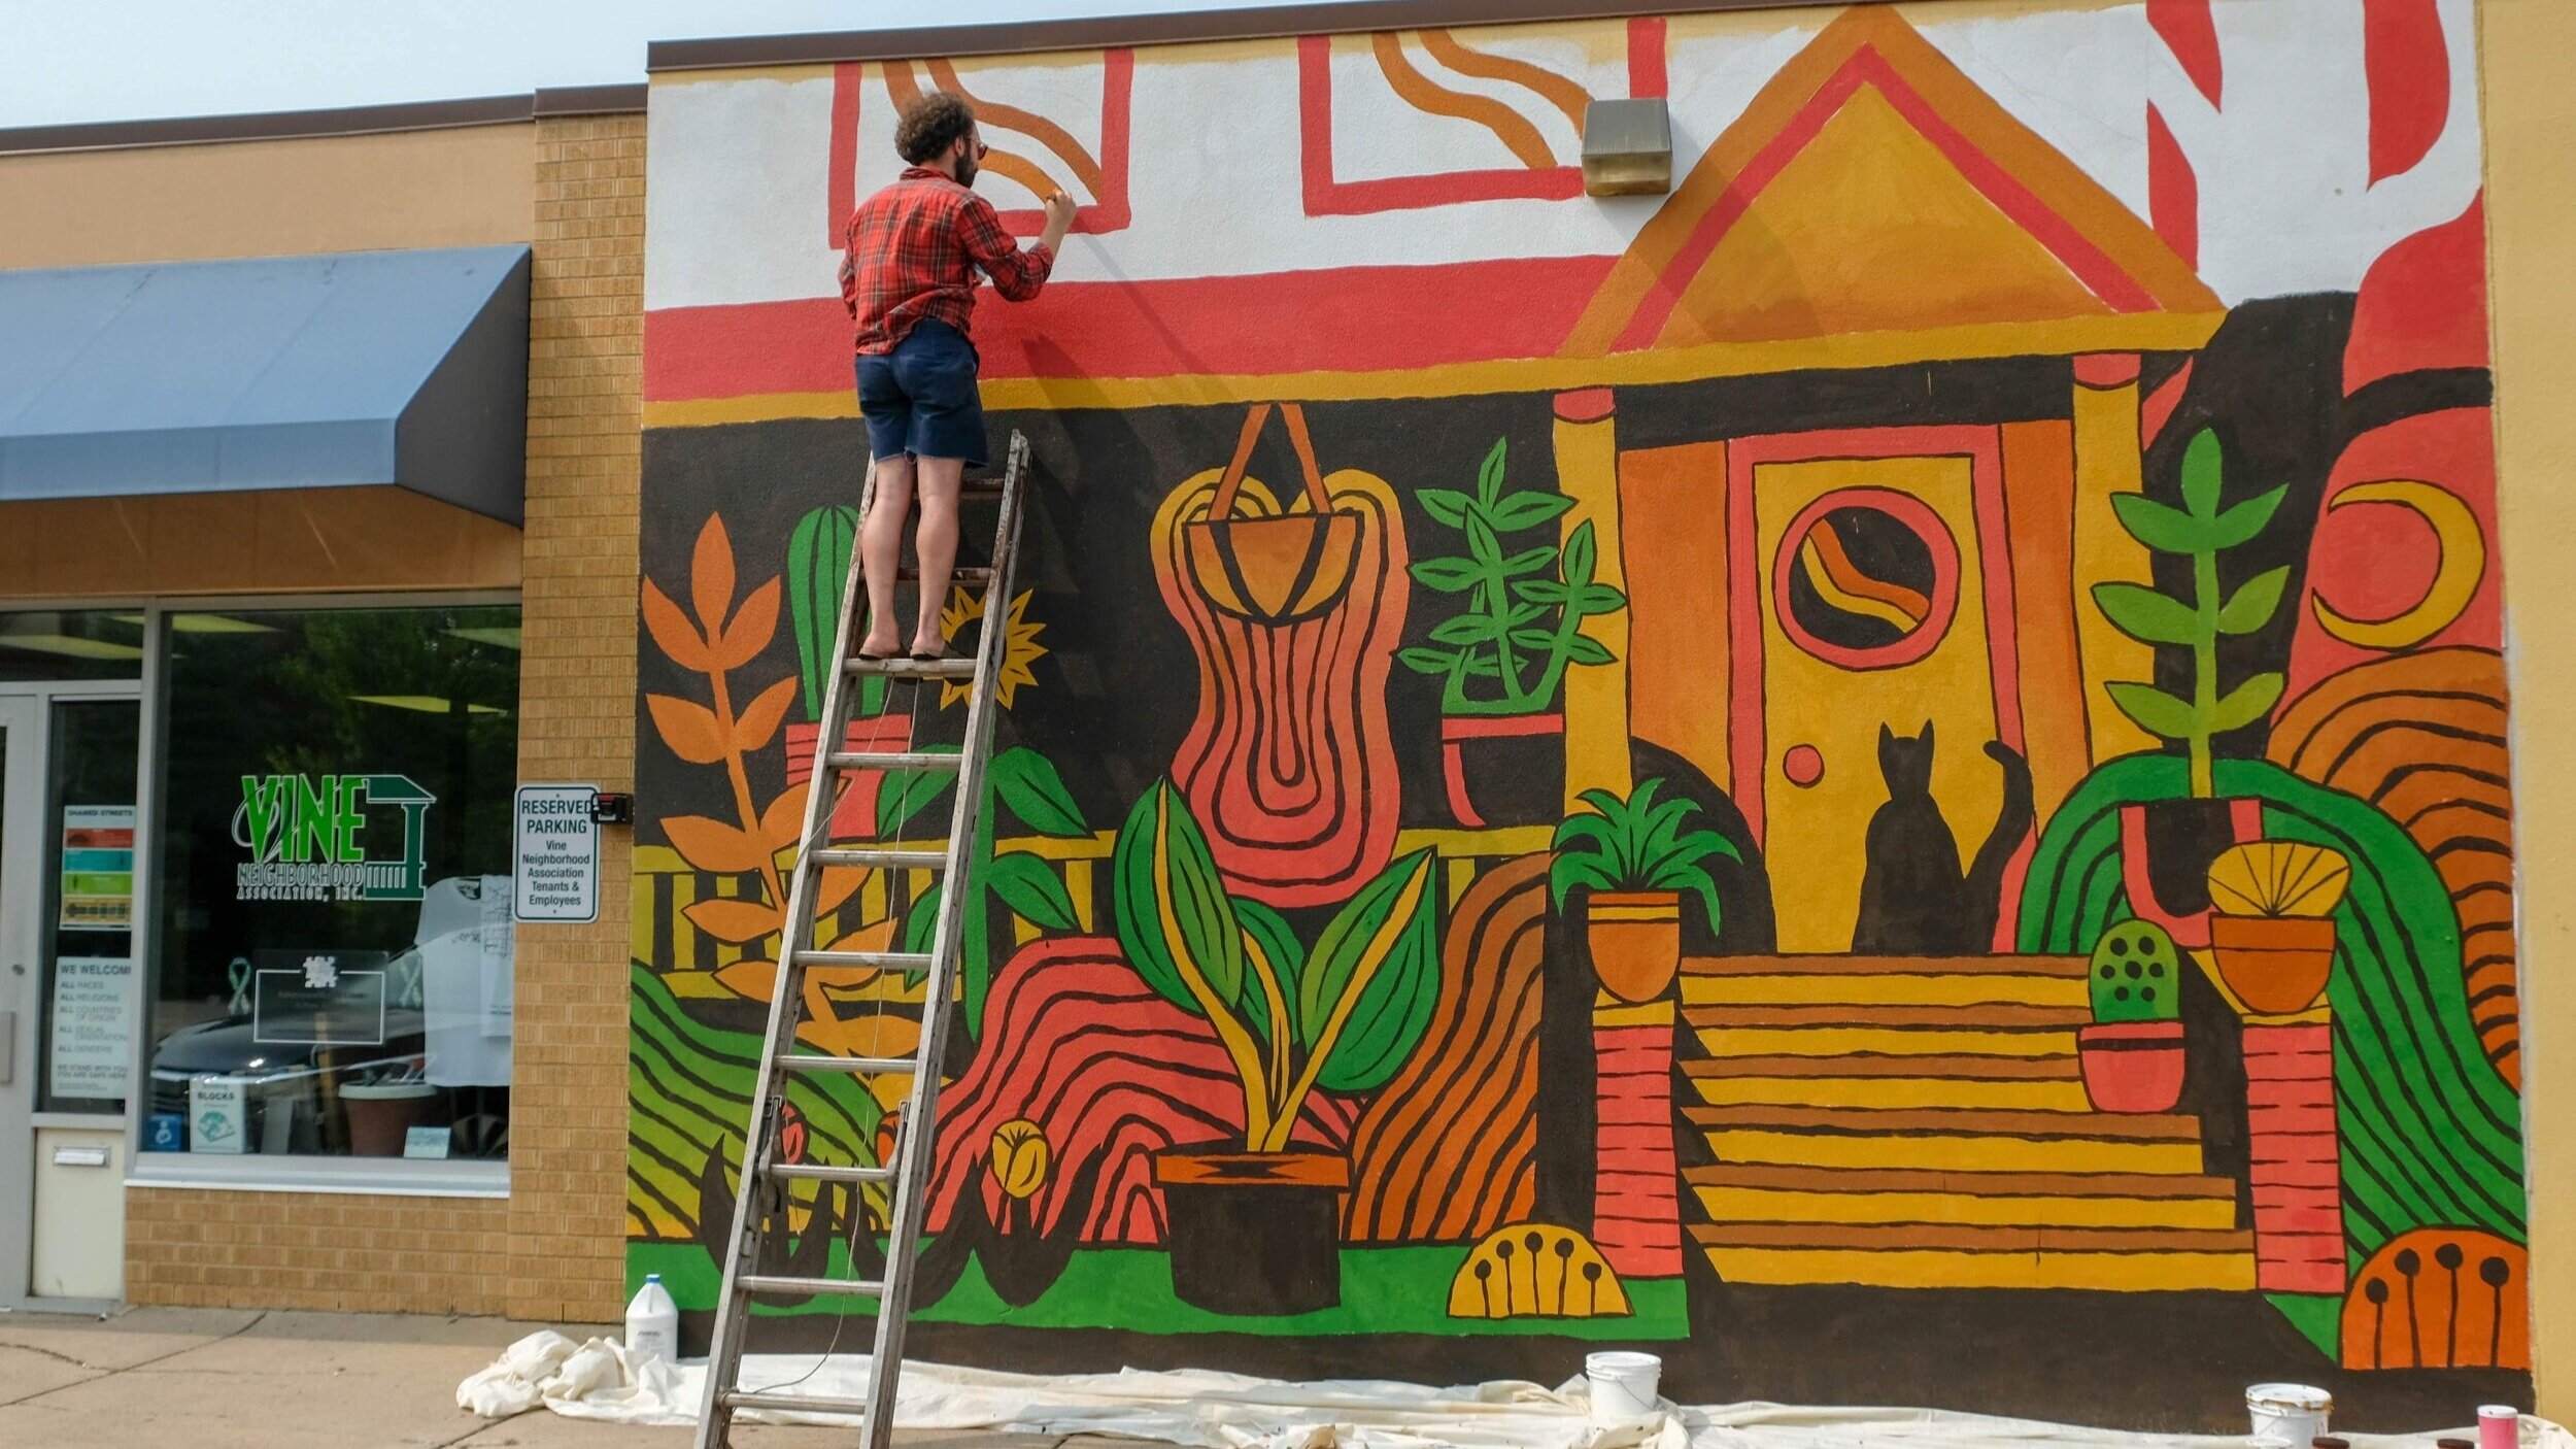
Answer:
<svg viewBox="0 0 2576 1449"><path fill-rule="evenodd" d="M1690 1168L1713 1222L2233 1230L2236 1183L2174 1173Z"/></svg>

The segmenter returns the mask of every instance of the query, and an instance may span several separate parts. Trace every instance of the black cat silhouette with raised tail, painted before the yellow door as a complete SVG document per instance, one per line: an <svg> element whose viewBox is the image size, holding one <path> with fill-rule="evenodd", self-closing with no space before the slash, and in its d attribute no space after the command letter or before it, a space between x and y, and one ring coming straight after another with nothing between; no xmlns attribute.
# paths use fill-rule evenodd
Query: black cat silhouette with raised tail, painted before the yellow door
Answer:
<svg viewBox="0 0 2576 1449"><path fill-rule="evenodd" d="M1932 799L1932 724L1911 737L1878 727L1878 773L1888 781L1888 802L1870 815L1852 951L1973 957L1994 949L2004 866L2030 833L2035 810L2020 750L1991 740L1986 755L2004 766L2004 804L1963 874L1958 835Z"/></svg>

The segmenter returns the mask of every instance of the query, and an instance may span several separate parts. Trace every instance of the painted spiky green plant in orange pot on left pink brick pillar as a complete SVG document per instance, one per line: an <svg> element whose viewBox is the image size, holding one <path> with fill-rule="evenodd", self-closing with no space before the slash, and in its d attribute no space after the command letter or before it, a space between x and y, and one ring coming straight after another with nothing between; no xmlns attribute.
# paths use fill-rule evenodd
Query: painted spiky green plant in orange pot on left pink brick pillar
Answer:
<svg viewBox="0 0 2576 1449"><path fill-rule="evenodd" d="M1620 1000L1654 1000L1682 969L1682 892L1695 892L1718 928L1718 882L1708 874L1710 856L1744 856L1716 830L1682 833L1700 807L1690 799L1656 804L1664 781L1649 779L1625 799L1607 789L1587 789L1584 812L1556 828L1556 864L1548 866L1548 892L1566 908L1566 892L1589 887L1584 900L1584 941L1592 969Z"/></svg>

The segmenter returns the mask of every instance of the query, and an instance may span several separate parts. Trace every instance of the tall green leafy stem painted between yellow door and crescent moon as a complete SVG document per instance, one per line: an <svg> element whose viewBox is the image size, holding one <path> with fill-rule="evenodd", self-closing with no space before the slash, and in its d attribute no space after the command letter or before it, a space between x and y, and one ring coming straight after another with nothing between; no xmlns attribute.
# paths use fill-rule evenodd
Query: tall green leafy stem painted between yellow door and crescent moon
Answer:
<svg viewBox="0 0 2576 1449"><path fill-rule="evenodd" d="M2272 621L2287 567L2264 570L2221 598L2218 554L2264 531L2287 485L2221 508L2221 449L2208 428L2182 454L2182 508L2143 492L2115 492L2110 505L2133 539L2159 554L2192 559L2192 596L2174 598L2138 583L2097 583L2094 603L2115 629L2143 645L2192 650L2192 696L2174 699L2154 683L2110 683L2110 699L2141 730L2179 740L2190 761L2190 792L2208 799L2210 740L2262 719L2280 701L2282 676L2257 673L2218 694L2218 642L2251 634Z"/></svg>

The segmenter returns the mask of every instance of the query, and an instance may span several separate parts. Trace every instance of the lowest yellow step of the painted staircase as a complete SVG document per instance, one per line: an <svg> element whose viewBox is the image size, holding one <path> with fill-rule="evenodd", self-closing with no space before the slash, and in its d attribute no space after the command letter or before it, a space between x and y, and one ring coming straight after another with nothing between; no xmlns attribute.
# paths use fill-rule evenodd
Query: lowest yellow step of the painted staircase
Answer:
<svg viewBox="0 0 2576 1449"><path fill-rule="evenodd" d="M2254 1289L2254 1235L2236 1230L1726 1222L1690 1232L1731 1284Z"/></svg>

